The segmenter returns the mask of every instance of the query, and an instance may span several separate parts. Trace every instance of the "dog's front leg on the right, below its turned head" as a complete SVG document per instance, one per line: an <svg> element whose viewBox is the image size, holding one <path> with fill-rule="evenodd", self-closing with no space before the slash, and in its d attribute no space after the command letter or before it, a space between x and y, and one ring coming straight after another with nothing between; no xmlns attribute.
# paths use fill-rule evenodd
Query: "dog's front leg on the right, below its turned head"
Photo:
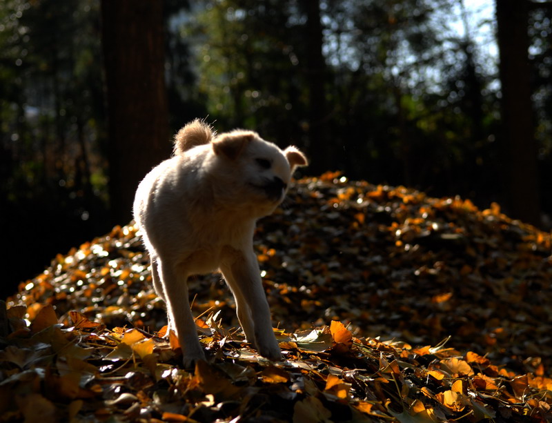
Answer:
<svg viewBox="0 0 552 423"><path fill-rule="evenodd" d="M238 319L248 341L255 340L257 351L263 357L282 360L282 352L270 322L270 308L255 253L239 251L233 261L222 266L221 270L234 293Z"/></svg>

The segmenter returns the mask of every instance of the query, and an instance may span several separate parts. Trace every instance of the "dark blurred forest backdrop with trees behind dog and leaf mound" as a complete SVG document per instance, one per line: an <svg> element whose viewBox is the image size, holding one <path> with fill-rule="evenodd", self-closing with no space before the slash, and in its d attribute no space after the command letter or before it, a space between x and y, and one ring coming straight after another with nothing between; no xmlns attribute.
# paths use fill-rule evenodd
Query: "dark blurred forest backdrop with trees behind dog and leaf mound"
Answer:
<svg viewBox="0 0 552 423"><path fill-rule="evenodd" d="M304 175L499 201L549 230L551 3L470 4L2 1L3 297L127 224L195 117L299 146Z"/></svg>

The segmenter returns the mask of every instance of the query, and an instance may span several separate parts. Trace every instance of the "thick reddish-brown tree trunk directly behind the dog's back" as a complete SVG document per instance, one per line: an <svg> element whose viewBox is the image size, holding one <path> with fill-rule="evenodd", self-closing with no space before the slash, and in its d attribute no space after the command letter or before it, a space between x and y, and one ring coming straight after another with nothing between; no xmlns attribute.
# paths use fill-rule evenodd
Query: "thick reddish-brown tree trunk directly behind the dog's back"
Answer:
<svg viewBox="0 0 552 423"><path fill-rule="evenodd" d="M168 158L163 2L102 0L112 224L126 224L139 181Z"/></svg>

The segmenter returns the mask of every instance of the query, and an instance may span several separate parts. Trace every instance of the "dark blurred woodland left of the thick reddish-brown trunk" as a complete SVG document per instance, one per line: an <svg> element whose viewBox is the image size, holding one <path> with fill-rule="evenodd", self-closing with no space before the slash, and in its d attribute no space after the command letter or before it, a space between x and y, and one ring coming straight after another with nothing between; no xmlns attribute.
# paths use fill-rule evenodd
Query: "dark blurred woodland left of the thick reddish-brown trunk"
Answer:
<svg viewBox="0 0 552 423"><path fill-rule="evenodd" d="M97 1L1 3L0 290L109 229L99 38Z"/></svg>

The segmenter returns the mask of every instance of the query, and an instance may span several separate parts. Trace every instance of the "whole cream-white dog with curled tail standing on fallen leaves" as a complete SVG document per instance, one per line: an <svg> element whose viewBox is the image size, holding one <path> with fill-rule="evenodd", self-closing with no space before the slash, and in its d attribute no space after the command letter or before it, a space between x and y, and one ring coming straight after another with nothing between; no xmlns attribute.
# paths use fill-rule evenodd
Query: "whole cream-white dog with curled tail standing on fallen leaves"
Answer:
<svg viewBox="0 0 552 423"><path fill-rule="evenodd" d="M168 311L184 365L204 359L190 312L190 275L220 270L232 291L246 339L271 360L281 352L270 322L253 232L282 201L305 156L280 150L256 132L215 135L196 119L175 137L174 155L139 184L134 217L150 253L152 279Z"/></svg>

